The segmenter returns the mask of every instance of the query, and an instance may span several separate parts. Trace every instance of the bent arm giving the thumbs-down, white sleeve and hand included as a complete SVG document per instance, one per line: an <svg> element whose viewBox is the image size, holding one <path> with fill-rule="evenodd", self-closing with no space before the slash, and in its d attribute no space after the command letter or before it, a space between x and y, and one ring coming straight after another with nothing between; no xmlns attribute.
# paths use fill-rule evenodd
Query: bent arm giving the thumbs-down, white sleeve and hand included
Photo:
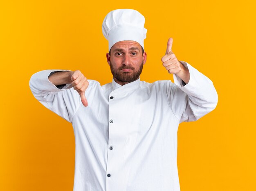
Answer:
<svg viewBox="0 0 256 191"><path fill-rule="evenodd" d="M69 122L81 102L84 106L88 105L85 98L88 85L89 82L78 70L39 71L34 73L29 81L34 97Z"/></svg>

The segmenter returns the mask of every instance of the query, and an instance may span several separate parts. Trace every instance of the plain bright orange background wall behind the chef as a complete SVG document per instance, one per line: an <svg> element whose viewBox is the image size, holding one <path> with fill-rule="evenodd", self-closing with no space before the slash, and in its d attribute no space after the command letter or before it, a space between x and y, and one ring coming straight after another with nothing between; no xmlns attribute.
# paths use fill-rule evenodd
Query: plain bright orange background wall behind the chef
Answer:
<svg viewBox="0 0 256 191"><path fill-rule="evenodd" d="M169 37L179 60L209 77L215 110L178 130L181 191L255 191L255 4L243 0L0 2L0 190L71 191L72 125L32 95L45 69L81 70L112 81L101 24L114 9L146 18L148 60L141 80L173 80L162 66Z"/></svg>

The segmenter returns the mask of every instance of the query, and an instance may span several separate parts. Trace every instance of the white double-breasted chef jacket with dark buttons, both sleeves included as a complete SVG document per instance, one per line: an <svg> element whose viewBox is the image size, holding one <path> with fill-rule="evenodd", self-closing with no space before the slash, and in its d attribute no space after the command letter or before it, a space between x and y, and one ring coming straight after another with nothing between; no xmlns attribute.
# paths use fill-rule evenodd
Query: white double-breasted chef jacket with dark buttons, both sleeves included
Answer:
<svg viewBox="0 0 256 191"><path fill-rule="evenodd" d="M190 80L173 75L153 83L140 78L123 86L88 80L88 107L71 84L57 88L54 71L31 76L29 85L45 107L72 123L75 135L74 191L180 191L177 129L212 111L218 95L212 81L181 61Z"/></svg>

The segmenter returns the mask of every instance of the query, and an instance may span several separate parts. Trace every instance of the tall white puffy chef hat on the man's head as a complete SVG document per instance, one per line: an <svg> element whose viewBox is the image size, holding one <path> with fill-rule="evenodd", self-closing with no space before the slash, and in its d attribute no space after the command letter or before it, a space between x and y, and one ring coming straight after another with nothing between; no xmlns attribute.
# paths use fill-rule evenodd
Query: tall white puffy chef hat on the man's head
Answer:
<svg viewBox="0 0 256 191"><path fill-rule="evenodd" d="M119 41L133 40L144 49L147 29L144 28L145 18L133 9L116 9L110 11L102 23L102 32L108 40L108 50Z"/></svg>

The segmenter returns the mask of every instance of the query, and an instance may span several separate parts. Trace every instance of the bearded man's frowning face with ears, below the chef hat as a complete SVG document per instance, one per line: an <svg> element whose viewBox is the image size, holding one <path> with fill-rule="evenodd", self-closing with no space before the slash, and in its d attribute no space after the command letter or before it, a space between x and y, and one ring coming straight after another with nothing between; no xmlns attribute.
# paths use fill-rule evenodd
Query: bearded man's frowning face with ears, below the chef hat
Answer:
<svg viewBox="0 0 256 191"><path fill-rule="evenodd" d="M142 53L138 42L120 41L115 43L110 51L106 57L113 78L118 84L124 85L139 79L146 63L146 52Z"/></svg>

